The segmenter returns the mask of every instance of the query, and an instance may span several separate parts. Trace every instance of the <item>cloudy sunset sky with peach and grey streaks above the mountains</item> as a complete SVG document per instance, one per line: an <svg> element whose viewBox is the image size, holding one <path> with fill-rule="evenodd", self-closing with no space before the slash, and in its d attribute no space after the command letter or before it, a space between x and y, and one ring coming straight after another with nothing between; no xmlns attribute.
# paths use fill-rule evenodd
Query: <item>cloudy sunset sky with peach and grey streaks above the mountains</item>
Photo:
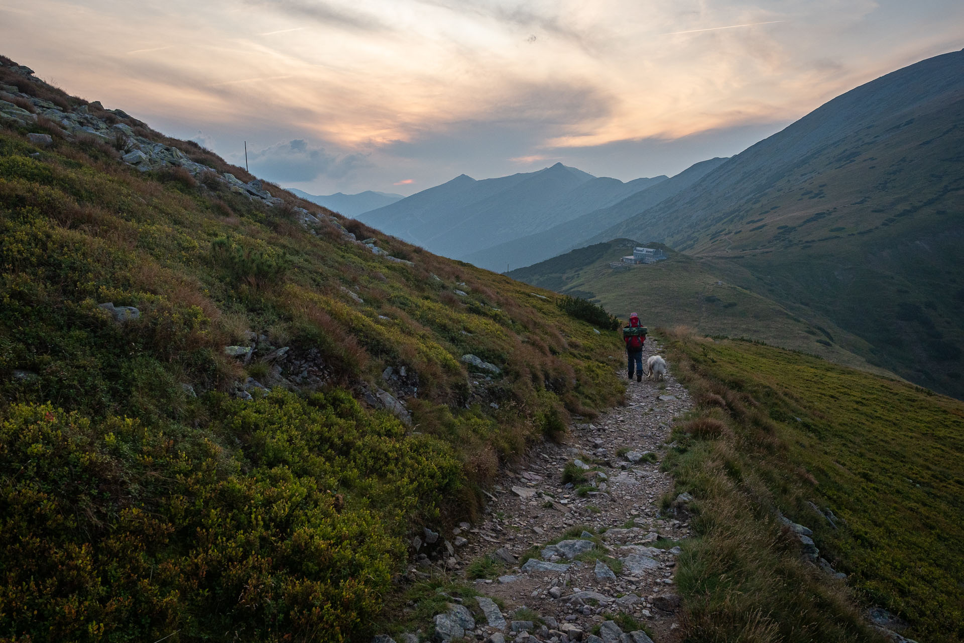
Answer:
<svg viewBox="0 0 964 643"><path fill-rule="evenodd" d="M960 0L0 0L0 54L311 194L673 175L962 47Z"/></svg>

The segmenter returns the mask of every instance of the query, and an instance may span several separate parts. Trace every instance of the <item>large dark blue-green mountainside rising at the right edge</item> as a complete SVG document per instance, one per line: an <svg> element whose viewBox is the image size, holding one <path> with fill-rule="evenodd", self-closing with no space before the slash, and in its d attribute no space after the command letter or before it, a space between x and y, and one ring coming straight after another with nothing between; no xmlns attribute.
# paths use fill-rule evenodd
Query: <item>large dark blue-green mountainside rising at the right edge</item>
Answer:
<svg viewBox="0 0 964 643"><path fill-rule="evenodd" d="M863 357L964 397L964 52L843 94L609 228L810 308Z"/></svg>

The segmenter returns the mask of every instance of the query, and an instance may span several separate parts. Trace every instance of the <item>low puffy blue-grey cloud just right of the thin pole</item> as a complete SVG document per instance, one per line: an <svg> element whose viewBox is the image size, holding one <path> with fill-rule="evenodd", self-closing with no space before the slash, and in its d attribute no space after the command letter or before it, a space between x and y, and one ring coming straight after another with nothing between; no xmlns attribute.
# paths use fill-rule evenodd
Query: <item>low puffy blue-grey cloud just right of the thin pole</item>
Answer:
<svg viewBox="0 0 964 643"><path fill-rule="evenodd" d="M281 183L303 183L319 177L339 179L371 167L365 154L332 153L304 139L293 139L257 150L249 147L248 159L252 172Z"/></svg>

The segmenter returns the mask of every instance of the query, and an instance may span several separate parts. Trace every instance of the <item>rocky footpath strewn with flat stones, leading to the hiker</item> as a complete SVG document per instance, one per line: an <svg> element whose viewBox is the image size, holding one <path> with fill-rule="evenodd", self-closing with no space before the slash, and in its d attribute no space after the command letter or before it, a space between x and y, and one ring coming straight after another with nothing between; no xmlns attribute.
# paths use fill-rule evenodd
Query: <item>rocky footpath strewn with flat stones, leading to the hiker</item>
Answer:
<svg viewBox="0 0 964 643"><path fill-rule="evenodd" d="M658 350L655 344L652 339L647 342L644 362ZM626 376L625 370L621 373ZM601 638L590 634L606 621L604 614L620 612L646 624L656 643L679 638L673 613L678 603L673 582L678 549L651 545L657 539L682 540L689 535L684 512L679 519L660 515L660 498L672 490L673 483L659 470L658 461L665 452L673 418L690 406L686 390L672 373L662 385L644 376L641 383L629 382L627 406L592 422L577 423L567 442L543 442L518 469L505 471L495 486L485 522L463 523L456 529L458 533L449 536L456 544L460 574L465 576L470 561L485 555L502 559L506 565L497 579L474 581L480 592L501 601L506 625L487 627L483 621L465 632L468 638L494 642L514 638L528 642L644 640L620 638L608 625L599 633ZM650 452L652 456L639 458ZM563 469L575 460L594 469L584 471L587 481L582 484L594 487L585 496L562 481ZM591 529L565 535L578 525ZM590 536L595 536L598 545ZM560 538L564 538L562 543L546 549L547 543ZM538 552L533 547L539 548ZM525 552L535 556L520 565ZM603 562L592 560L601 555ZM514 619L522 607L533 610L547 625L534 624L531 630L514 632L512 622L524 620ZM490 612L490 625L501 625L498 608L490 606Z"/></svg>

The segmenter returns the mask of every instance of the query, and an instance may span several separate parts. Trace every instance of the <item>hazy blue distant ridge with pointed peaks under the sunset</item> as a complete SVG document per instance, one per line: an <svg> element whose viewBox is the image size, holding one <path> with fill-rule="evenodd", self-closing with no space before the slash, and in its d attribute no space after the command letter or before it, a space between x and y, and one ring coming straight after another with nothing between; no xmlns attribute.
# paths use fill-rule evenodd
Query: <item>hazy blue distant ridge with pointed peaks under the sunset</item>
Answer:
<svg viewBox="0 0 964 643"><path fill-rule="evenodd" d="M459 257L552 228L665 179L624 183L561 163L483 180L461 174L358 218L433 253Z"/></svg>

